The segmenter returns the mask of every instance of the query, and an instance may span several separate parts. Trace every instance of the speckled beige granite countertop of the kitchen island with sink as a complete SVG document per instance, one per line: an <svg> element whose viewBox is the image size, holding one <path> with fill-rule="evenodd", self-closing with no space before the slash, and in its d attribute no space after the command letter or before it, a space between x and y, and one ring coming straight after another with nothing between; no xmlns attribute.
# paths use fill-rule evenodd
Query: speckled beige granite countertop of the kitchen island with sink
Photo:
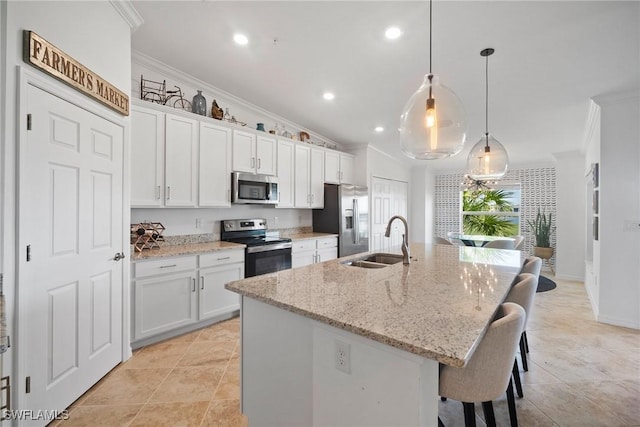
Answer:
<svg viewBox="0 0 640 427"><path fill-rule="evenodd" d="M393 250L393 253L400 253ZM411 245L410 265L326 261L225 287L450 366L464 366L522 266L520 251Z"/></svg>

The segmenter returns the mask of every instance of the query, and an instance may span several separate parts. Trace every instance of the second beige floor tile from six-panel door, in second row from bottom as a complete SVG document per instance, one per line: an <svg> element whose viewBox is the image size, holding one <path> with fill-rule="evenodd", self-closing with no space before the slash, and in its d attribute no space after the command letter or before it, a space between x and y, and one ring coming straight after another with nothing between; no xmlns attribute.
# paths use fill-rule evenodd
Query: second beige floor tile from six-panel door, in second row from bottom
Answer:
<svg viewBox="0 0 640 427"><path fill-rule="evenodd" d="M213 398L222 368L178 367L151 396L150 402L202 402Z"/></svg>

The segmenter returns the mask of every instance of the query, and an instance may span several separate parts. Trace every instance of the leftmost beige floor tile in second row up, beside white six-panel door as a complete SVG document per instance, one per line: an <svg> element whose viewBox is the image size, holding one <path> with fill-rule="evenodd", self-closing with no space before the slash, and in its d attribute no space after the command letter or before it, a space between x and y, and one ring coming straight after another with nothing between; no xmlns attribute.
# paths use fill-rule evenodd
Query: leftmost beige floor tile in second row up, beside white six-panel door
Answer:
<svg viewBox="0 0 640 427"><path fill-rule="evenodd" d="M91 392L81 406L145 403L171 370L120 369Z"/></svg>

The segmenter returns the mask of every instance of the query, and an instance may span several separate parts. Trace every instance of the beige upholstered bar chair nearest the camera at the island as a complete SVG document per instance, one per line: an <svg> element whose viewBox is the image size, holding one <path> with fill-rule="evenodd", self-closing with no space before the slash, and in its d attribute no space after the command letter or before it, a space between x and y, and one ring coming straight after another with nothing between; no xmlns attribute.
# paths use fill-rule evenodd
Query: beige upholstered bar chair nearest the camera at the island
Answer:
<svg viewBox="0 0 640 427"><path fill-rule="evenodd" d="M441 365L439 394L443 398L462 402L465 426L475 427L474 403L482 402L487 426L495 427L493 400L505 390L511 426L518 425L511 367L525 316L524 309L519 305L503 303L467 364L463 368Z"/></svg>

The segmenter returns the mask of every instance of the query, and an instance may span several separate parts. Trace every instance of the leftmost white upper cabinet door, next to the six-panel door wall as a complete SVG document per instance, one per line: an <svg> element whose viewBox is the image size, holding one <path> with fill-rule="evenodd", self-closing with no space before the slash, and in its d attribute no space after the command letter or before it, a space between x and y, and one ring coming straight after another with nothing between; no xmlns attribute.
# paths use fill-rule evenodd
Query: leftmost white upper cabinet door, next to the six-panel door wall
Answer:
<svg viewBox="0 0 640 427"><path fill-rule="evenodd" d="M131 206L164 201L164 113L131 108Z"/></svg>

